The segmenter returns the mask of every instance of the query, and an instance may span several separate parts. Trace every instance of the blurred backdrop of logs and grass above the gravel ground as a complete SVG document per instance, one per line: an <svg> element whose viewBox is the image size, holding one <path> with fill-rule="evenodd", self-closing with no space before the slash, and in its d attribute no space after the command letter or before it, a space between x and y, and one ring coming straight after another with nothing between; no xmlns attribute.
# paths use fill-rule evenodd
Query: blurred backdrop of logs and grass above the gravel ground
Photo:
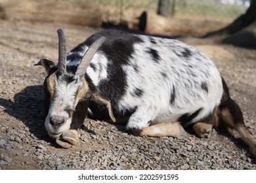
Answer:
<svg viewBox="0 0 256 183"><path fill-rule="evenodd" d="M251 0L0 0L0 18L203 36L231 24L250 3Z"/></svg>

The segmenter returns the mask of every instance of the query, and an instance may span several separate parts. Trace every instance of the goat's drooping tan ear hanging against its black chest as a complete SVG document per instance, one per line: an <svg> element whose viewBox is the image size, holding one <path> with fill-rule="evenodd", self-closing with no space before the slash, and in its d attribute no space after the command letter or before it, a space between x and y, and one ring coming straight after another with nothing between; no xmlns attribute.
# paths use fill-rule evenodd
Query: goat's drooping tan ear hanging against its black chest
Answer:
<svg viewBox="0 0 256 183"><path fill-rule="evenodd" d="M103 97L100 93L100 91L96 91L93 93L93 96L91 97L91 100L95 101L99 105L104 105L108 109L108 114L110 115L110 118L113 122L116 122L116 118L114 117L111 102L108 101L105 97Z"/></svg>

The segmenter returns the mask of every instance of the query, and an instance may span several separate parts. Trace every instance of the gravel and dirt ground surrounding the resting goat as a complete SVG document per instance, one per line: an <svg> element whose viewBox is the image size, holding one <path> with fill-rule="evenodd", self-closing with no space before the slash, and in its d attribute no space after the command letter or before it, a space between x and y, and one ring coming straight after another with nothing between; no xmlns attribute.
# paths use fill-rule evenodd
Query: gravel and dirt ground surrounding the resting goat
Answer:
<svg viewBox="0 0 256 183"><path fill-rule="evenodd" d="M41 58L56 60L58 27L66 33L68 50L99 29L0 24L0 169L256 169L256 159L240 139L216 131L208 139L191 133L180 139L134 137L123 125L86 120L79 145L59 148L43 124L45 72L33 64ZM192 42L215 61L256 135L256 50Z"/></svg>

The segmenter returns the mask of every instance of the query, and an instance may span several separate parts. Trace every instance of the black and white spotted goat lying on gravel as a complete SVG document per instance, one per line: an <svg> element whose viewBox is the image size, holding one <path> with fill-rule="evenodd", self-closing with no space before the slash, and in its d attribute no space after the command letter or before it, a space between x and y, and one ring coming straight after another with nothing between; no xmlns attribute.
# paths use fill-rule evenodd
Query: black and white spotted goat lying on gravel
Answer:
<svg viewBox="0 0 256 183"><path fill-rule="evenodd" d="M133 135L199 137L214 127L235 129L256 156L255 137L230 99L217 67L196 48L177 41L117 30L91 35L66 54L58 29L58 64L45 67L45 127L64 148L79 141L85 117L127 123Z"/></svg>

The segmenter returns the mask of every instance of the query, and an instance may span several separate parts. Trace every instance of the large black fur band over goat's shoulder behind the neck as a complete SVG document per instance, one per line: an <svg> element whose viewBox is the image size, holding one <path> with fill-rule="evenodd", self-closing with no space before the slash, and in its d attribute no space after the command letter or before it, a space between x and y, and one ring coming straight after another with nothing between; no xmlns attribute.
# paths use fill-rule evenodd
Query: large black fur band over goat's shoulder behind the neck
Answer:
<svg viewBox="0 0 256 183"><path fill-rule="evenodd" d="M131 64L129 59L135 52L134 44L143 42L137 35L118 30L106 30L95 33L83 44L91 45L100 37L106 37L106 41L98 49L108 58L108 78L101 80L98 90L109 99L113 107L117 107L119 99L125 95L127 88L126 73L123 65ZM136 70L135 70L136 71Z"/></svg>

